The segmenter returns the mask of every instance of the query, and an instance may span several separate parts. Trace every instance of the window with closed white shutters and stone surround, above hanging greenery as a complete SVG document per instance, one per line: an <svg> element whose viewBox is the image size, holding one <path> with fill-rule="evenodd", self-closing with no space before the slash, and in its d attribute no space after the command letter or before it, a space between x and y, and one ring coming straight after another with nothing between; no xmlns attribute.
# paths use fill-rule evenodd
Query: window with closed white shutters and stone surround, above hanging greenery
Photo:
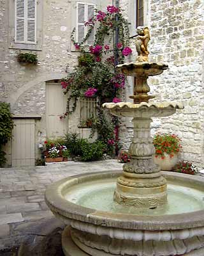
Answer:
<svg viewBox="0 0 204 256"><path fill-rule="evenodd" d="M8 1L9 48L41 51L43 47L43 4L45 1L6 1Z"/></svg>

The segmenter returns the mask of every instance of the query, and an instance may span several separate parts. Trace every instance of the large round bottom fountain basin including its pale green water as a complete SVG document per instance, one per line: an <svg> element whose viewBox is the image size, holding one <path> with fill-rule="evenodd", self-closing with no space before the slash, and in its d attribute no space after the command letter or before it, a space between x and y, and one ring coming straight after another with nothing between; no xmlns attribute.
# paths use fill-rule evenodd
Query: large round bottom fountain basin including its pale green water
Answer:
<svg viewBox="0 0 204 256"><path fill-rule="evenodd" d="M115 210L108 210L98 197L103 198L103 193L97 190L102 188L108 193L106 186L111 188L120 175L119 171L76 175L48 187L45 195L48 207L69 225L62 237L65 255L204 255L203 177L163 172L170 191L175 186L175 194L184 193L184 199L189 198L184 202L171 198L170 202L176 203L171 211L164 209L168 208L165 205L161 209L137 212L117 205L113 195L105 195L116 205ZM94 205L90 204L94 200ZM180 212L177 211L179 205ZM184 205L187 209L182 211ZM75 254L69 250L73 246Z"/></svg>

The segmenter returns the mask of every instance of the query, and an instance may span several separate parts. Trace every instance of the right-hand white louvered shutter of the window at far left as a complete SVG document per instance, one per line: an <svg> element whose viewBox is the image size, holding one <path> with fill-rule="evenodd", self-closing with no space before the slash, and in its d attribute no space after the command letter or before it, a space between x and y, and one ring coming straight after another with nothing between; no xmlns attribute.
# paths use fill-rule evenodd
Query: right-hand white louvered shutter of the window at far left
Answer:
<svg viewBox="0 0 204 256"><path fill-rule="evenodd" d="M36 0L27 0L27 44L36 44Z"/></svg>

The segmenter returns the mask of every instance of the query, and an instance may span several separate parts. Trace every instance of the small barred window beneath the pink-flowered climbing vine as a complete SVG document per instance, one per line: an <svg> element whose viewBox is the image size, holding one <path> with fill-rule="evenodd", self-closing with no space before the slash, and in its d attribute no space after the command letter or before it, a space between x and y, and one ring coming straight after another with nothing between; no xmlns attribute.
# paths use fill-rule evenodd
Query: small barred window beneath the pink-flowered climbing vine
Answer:
<svg viewBox="0 0 204 256"><path fill-rule="evenodd" d="M91 127L92 118L96 118L97 110L96 98L80 98L80 125L81 127Z"/></svg>

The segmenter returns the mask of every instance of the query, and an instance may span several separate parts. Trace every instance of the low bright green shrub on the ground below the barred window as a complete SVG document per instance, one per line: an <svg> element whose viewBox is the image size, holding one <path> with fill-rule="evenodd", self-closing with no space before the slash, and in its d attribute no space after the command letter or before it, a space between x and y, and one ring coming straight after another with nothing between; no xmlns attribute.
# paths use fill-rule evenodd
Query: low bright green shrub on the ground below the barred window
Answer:
<svg viewBox="0 0 204 256"><path fill-rule="evenodd" d="M95 161L103 157L106 145L103 141L96 141L94 143L89 143L88 141L83 141L82 143L82 161Z"/></svg>

